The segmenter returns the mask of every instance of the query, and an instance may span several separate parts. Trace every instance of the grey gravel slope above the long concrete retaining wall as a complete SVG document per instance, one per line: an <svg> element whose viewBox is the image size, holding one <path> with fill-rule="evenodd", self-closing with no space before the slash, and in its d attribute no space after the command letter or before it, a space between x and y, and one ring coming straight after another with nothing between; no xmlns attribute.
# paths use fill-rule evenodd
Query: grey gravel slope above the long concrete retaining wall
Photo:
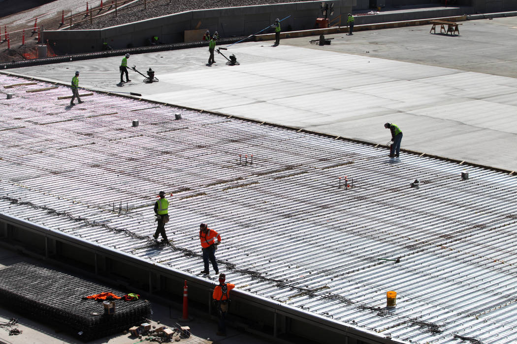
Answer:
<svg viewBox="0 0 517 344"><path fill-rule="evenodd" d="M190 10L295 2L300 2L300 0L156 0L152 3L147 4L147 10L144 10L144 1L140 0L139 6L118 10L117 17L115 17L115 13L110 13L104 15L101 18L94 19L92 24L90 24L89 22L79 23L74 28L99 29L103 27L136 22L139 20L160 17L161 15L167 15Z"/></svg>

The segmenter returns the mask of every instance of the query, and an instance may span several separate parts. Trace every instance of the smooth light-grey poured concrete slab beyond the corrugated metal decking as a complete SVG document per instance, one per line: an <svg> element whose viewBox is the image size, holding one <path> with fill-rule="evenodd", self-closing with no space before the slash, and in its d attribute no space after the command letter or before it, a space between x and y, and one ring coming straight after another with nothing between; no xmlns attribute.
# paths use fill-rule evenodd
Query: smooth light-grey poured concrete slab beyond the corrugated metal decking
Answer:
<svg viewBox="0 0 517 344"><path fill-rule="evenodd" d="M430 25L239 43L240 65L207 65L207 48L133 55L128 65L159 83L117 85L121 57L12 69L7 73L139 92L144 99L212 110L373 143L398 124L402 148L517 170L517 18L466 21L459 36ZM85 101L88 101L87 98Z"/></svg>

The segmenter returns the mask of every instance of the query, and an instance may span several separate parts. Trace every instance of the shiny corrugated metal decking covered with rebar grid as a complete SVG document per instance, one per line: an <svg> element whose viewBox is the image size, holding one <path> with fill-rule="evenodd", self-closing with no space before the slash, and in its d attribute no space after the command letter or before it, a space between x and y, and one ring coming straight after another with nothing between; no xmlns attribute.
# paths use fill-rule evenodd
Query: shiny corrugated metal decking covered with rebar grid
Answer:
<svg viewBox="0 0 517 344"><path fill-rule="evenodd" d="M50 86L0 91L1 212L193 274L207 222L220 270L251 294L401 342L517 339L515 176L113 95L68 108L56 101L68 88L26 92ZM344 175L353 188L338 188ZM174 249L149 245L159 190L173 193Z"/></svg>

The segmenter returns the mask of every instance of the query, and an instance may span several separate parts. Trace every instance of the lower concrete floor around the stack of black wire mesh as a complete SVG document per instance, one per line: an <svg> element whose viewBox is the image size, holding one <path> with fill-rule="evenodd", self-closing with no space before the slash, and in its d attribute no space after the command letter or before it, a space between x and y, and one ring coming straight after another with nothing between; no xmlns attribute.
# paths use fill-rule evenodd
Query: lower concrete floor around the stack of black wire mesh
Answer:
<svg viewBox="0 0 517 344"><path fill-rule="evenodd" d="M18 254L14 251L0 248L0 269L8 267L10 265L26 261L27 263L44 264L41 260L35 260L34 258L27 257L25 255ZM53 265L47 264L46 266L56 268ZM58 269L59 270L59 269ZM102 283L102 282L101 282ZM151 325L156 325L157 321L161 324L173 328L179 323L181 326L189 326L192 336L184 338L179 343L186 344L266 344L269 340L254 336L248 333L244 333L231 326L227 326L226 337L216 335L217 332L217 320L208 320L207 317L192 316L189 313L191 321L182 322L180 319L182 315L182 309L180 307L169 307L168 305L162 305L158 301L149 299L152 306L153 314L151 315ZM64 344L64 343L84 343L83 341L72 337L68 334L65 329L59 324L43 324L41 322L34 321L30 318L26 318L12 309L6 309L1 306L0 302L0 323L7 323L10 318L18 320L18 325L14 328L22 331L19 335L9 336L8 330L0 326L0 344ZM231 321L231 316L229 318ZM146 336L142 336L142 339L127 334L115 334L112 336L100 338L93 341L88 341L91 344L147 344L152 343L151 341L145 340ZM174 341L173 341L174 342Z"/></svg>

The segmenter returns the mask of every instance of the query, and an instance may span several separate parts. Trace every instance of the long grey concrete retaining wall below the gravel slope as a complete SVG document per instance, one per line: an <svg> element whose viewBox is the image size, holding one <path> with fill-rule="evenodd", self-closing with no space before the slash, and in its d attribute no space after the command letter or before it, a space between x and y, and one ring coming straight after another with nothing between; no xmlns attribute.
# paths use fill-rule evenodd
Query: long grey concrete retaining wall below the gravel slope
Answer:
<svg viewBox="0 0 517 344"><path fill-rule="evenodd" d="M355 1L332 1L333 17L346 15ZM219 31L221 38L249 36L271 25L276 18L289 15L281 23L282 31L303 30L313 28L316 18L321 17L320 4L310 1L188 11L104 29L44 31L43 40L55 43L60 54L77 54L100 51L104 41L115 49L144 46L146 39L153 36L158 36L161 43L184 42L185 31L197 27ZM272 29L264 32L268 30Z"/></svg>

